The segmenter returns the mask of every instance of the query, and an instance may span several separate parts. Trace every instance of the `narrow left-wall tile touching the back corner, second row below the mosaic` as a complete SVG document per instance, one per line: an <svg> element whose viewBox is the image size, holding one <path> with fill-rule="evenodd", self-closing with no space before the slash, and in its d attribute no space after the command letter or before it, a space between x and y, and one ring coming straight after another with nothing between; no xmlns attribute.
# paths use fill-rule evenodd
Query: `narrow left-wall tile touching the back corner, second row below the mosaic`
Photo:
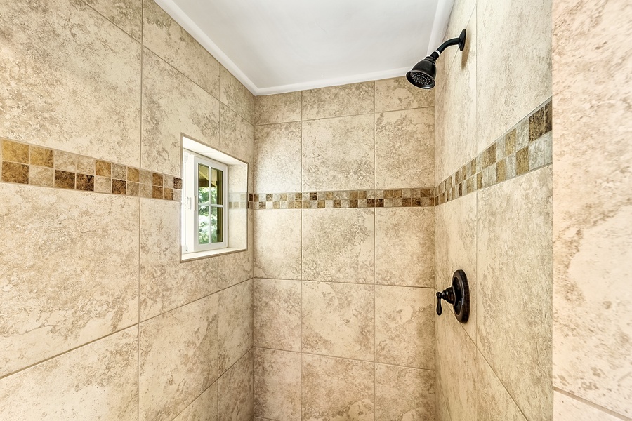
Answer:
<svg viewBox="0 0 632 421"><path fill-rule="evenodd" d="M219 373L252 347L252 280L219 292Z"/></svg>

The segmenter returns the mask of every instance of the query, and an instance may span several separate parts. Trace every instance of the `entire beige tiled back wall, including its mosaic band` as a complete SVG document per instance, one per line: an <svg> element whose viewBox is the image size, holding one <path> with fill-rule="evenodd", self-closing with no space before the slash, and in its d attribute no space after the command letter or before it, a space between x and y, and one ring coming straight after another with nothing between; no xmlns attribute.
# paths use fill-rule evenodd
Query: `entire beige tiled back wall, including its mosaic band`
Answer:
<svg viewBox="0 0 632 421"><path fill-rule="evenodd" d="M404 78L256 97L257 420L434 419L433 103Z"/></svg>

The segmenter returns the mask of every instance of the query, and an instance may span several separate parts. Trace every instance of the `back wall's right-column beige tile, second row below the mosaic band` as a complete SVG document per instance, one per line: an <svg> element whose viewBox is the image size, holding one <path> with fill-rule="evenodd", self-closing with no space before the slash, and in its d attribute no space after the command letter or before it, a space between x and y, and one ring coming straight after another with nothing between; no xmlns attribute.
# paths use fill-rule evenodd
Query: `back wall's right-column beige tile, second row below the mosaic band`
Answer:
<svg viewBox="0 0 632 421"><path fill-rule="evenodd" d="M434 290L375 287L376 361L435 368Z"/></svg>

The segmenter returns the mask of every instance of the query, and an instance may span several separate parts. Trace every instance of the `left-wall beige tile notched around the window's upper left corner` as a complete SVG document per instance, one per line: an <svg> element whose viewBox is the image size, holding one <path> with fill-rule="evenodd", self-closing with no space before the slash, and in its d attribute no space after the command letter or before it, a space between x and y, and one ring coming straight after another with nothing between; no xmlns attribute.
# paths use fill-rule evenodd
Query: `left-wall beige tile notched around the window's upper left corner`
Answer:
<svg viewBox="0 0 632 421"><path fill-rule="evenodd" d="M143 50L142 167L180 177L181 135L219 148L219 101Z"/></svg>

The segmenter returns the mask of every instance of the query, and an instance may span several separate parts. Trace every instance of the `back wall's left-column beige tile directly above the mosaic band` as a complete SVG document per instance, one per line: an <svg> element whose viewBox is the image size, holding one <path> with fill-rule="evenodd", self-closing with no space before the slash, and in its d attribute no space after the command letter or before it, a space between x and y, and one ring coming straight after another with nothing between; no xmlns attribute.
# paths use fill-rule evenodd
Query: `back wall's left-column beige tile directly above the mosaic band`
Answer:
<svg viewBox="0 0 632 421"><path fill-rule="evenodd" d="M300 122L255 128L254 182L255 192L301 191Z"/></svg>

